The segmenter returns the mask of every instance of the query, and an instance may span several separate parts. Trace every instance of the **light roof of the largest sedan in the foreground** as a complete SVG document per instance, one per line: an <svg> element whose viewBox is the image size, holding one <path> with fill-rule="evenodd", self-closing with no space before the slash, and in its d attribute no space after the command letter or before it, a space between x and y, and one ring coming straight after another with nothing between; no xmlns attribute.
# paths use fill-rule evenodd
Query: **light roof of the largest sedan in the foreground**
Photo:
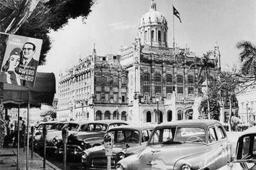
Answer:
<svg viewBox="0 0 256 170"><path fill-rule="evenodd" d="M155 127L155 129L168 127L168 126L200 126L207 128L208 126L214 124L221 124L220 121L216 121L214 119L187 119L187 120L180 120L180 121L170 121L168 123L161 123Z"/></svg>

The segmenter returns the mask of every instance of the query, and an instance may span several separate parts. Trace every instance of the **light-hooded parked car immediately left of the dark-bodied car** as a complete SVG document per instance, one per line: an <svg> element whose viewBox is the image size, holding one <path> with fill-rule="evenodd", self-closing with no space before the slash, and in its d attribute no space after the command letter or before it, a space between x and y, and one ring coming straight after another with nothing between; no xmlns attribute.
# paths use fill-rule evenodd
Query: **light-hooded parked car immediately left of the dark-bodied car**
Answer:
<svg viewBox="0 0 256 170"><path fill-rule="evenodd" d="M46 149L53 150L55 152L58 143L62 140L62 129L65 127L70 134L78 131L87 126L88 121L72 121L69 123L63 123L62 126L59 126L56 131L50 131L46 134ZM43 148L43 137L40 137L40 140L36 143L36 147Z"/></svg>

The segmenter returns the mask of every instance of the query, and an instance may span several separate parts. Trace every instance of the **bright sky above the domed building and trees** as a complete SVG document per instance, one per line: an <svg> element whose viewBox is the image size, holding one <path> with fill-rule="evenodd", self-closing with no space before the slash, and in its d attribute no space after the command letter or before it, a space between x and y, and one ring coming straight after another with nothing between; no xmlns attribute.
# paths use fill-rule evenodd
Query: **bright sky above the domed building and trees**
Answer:
<svg viewBox="0 0 256 170"><path fill-rule="evenodd" d="M51 31L51 50L41 72L59 71L92 54L117 54L121 46L130 46L138 33L139 19L150 9L151 0L96 0L85 23L69 20L61 30ZM238 63L236 44L247 40L256 44L255 0L155 0L156 10L168 22L168 44L173 44L172 6L179 11L182 23L174 18L175 41L179 47L202 56L217 43L224 69Z"/></svg>

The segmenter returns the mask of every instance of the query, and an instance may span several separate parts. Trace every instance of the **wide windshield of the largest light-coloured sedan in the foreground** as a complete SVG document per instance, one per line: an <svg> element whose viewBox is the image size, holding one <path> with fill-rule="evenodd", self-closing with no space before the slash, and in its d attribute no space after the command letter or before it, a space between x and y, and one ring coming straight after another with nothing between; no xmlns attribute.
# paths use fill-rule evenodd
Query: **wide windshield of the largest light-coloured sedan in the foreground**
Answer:
<svg viewBox="0 0 256 170"><path fill-rule="evenodd" d="M201 127L167 127L156 129L148 144L205 143L205 130Z"/></svg>

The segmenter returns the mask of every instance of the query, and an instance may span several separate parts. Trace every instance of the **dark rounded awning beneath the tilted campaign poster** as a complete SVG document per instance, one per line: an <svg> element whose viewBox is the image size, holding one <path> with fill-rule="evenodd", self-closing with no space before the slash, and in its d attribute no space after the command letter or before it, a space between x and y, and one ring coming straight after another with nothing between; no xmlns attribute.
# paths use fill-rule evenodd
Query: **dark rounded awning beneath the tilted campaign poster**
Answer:
<svg viewBox="0 0 256 170"><path fill-rule="evenodd" d="M56 80L53 73L36 73L33 89L4 83L4 108L41 107L41 104L53 105L56 93Z"/></svg>

